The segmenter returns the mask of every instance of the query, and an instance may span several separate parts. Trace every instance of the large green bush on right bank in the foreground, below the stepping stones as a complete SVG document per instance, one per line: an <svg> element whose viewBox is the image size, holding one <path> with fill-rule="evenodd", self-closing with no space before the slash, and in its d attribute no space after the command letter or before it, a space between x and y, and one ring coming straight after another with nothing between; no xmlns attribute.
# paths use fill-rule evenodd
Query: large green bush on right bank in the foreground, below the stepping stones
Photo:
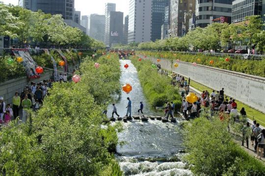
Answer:
<svg viewBox="0 0 265 176"><path fill-rule="evenodd" d="M184 124L184 145L188 153L185 159L192 172L204 176L264 176L265 165L233 141L227 130L229 122L209 117L207 113ZM240 132L242 124L238 127L230 124L231 130Z"/></svg>

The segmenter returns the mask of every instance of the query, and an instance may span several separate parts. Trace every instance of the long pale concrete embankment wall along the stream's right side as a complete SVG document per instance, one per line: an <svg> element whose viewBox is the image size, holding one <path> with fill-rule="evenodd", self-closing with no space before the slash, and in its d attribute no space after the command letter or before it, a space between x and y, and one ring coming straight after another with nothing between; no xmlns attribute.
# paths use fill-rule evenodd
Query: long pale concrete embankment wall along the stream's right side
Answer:
<svg viewBox="0 0 265 176"><path fill-rule="evenodd" d="M147 57L147 59L157 63L157 58ZM216 90L224 88L226 95L265 113L264 77L210 66L193 66L191 63L177 62L176 60L173 62L169 59L160 60L159 64L163 69L171 70L209 88ZM175 63L179 65L177 68L174 67Z"/></svg>

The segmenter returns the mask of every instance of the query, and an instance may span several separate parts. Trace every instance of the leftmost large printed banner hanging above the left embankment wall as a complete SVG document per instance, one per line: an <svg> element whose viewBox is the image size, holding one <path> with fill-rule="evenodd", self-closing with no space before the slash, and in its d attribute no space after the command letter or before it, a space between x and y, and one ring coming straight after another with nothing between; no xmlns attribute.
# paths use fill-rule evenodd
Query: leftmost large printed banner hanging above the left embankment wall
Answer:
<svg viewBox="0 0 265 176"><path fill-rule="evenodd" d="M25 67L27 77L31 79L39 78L40 75L36 72L37 63L31 58L28 49L12 49L16 57L22 57L21 64Z"/></svg>

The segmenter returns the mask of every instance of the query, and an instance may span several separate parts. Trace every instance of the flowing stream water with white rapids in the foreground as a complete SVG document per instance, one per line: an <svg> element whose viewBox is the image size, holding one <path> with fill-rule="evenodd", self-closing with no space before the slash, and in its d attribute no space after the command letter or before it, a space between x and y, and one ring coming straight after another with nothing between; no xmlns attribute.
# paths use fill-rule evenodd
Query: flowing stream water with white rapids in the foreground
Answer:
<svg viewBox="0 0 265 176"><path fill-rule="evenodd" d="M132 101L132 115L138 114L140 101L144 104L144 114L162 115L162 112L151 110L147 106L141 85L139 83L136 68L130 60L121 60L122 85L129 83L132 91L129 94L122 92L122 95L115 102L118 114L126 115L128 104L127 97ZM124 65L129 68L125 69ZM110 117L112 105L109 105L107 116ZM115 115L114 115L115 116ZM183 154L182 136L177 132L178 126L172 123L162 123L159 120L141 122L132 120L122 122L124 131L118 133L119 141L125 145L117 146L116 158L125 176L191 176L185 163L181 162Z"/></svg>

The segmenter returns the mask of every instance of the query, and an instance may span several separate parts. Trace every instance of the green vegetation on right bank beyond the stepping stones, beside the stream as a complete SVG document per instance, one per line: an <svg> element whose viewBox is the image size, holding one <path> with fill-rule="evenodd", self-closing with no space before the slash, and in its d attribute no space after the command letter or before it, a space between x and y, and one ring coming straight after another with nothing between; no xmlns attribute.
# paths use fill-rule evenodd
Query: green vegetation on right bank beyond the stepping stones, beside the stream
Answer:
<svg viewBox="0 0 265 176"><path fill-rule="evenodd" d="M180 110L182 98L179 89L171 85L171 79L159 74L157 68L152 68L151 61L138 61L136 57L131 59L138 71L143 92L152 108L164 106L166 101L173 101L176 110Z"/></svg>

